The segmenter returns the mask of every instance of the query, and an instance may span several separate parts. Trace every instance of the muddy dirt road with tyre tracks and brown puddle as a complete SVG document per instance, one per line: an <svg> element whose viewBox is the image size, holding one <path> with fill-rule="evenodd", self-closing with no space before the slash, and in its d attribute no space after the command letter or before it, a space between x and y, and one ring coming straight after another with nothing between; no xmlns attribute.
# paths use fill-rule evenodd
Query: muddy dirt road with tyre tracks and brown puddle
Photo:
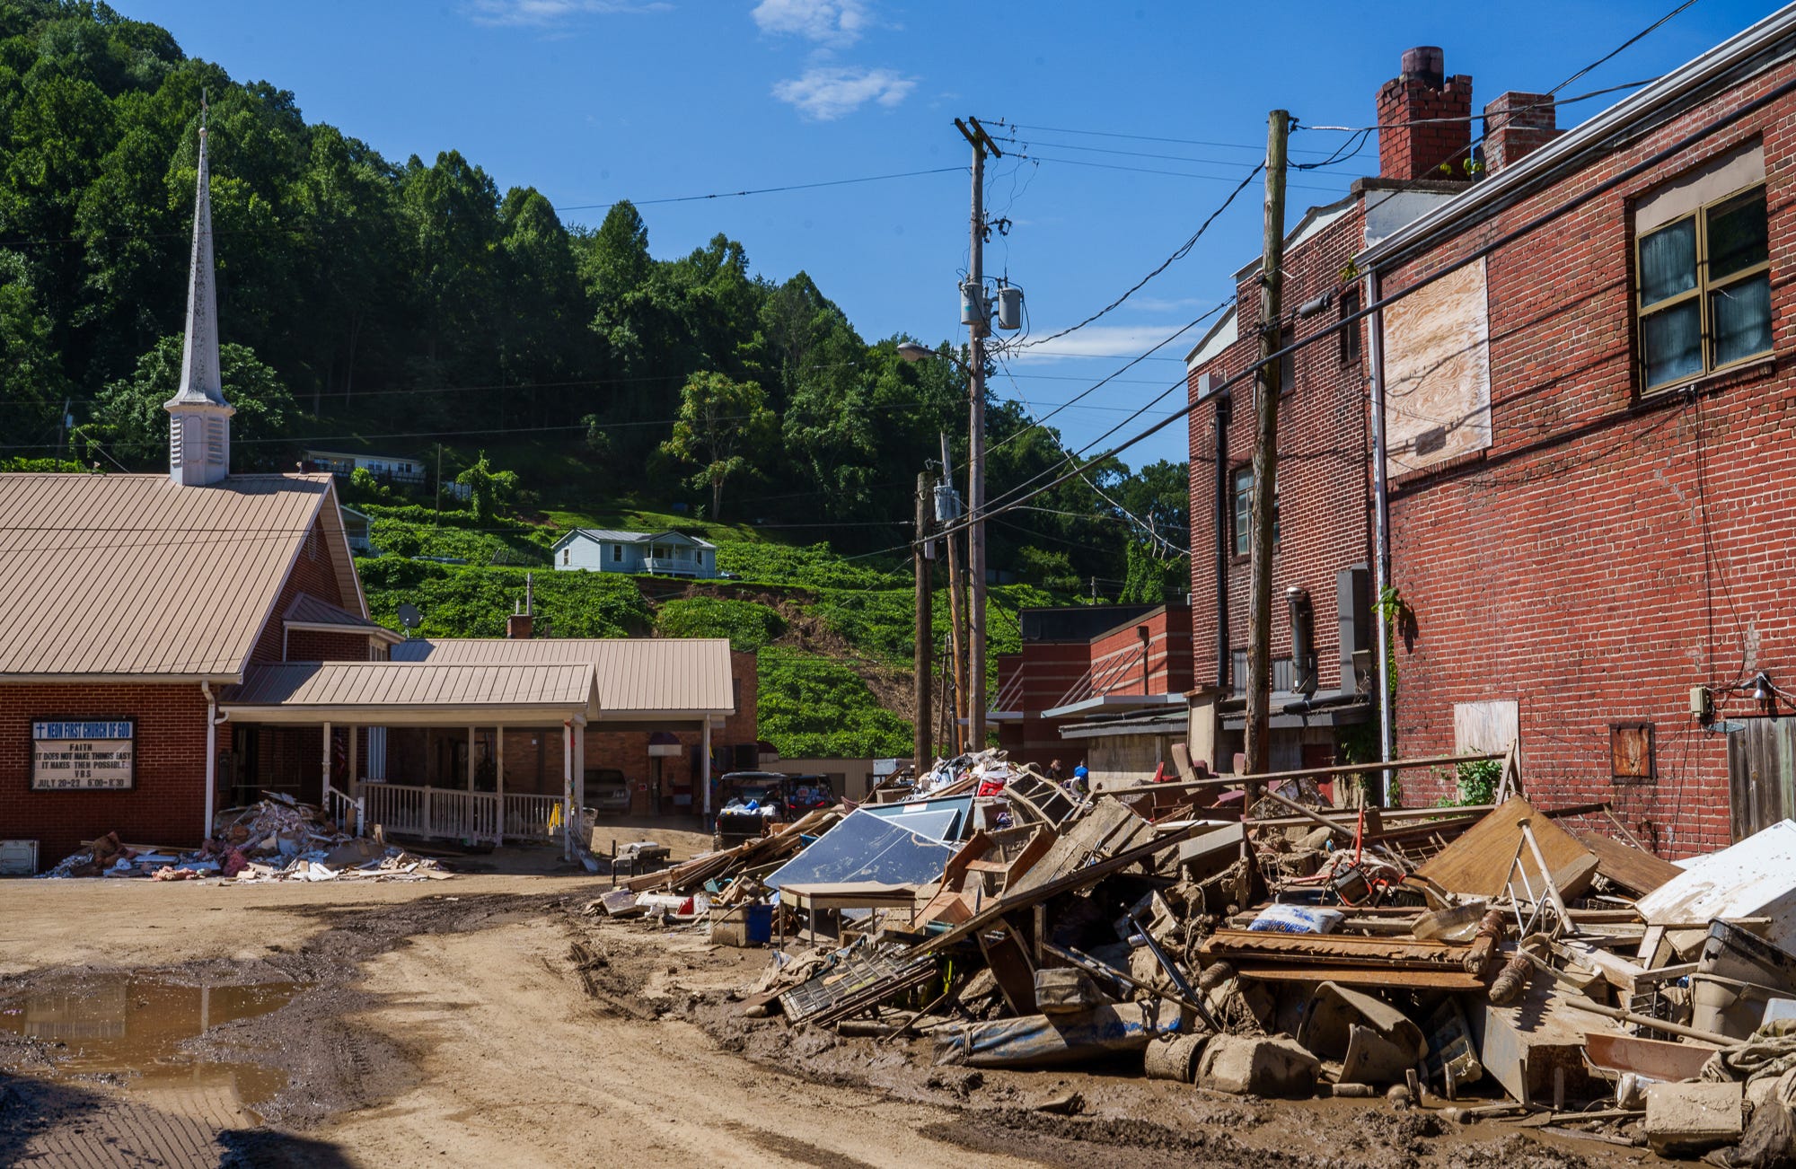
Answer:
<svg viewBox="0 0 1796 1169"><path fill-rule="evenodd" d="M1597 1142L1137 1076L932 1074L744 1020L763 950L593 921L591 878L0 885L0 1164L1519 1165ZM214 1006L217 1004L217 1006ZM122 1045L122 1047L120 1047ZM1078 1092L1078 1115L1038 1104ZM1647 1158L1651 1160L1651 1158Z"/></svg>

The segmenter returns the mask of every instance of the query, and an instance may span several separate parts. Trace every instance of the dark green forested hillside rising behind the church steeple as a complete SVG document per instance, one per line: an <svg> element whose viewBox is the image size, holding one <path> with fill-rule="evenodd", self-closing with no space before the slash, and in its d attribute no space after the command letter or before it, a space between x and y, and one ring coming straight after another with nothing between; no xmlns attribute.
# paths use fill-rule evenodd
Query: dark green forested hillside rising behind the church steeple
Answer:
<svg viewBox="0 0 1796 1169"><path fill-rule="evenodd" d="M239 469L316 444L440 449L453 478L487 449L526 514L629 497L844 549L909 539L918 470L964 431L952 363L903 363L902 338L869 343L810 277L756 273L738 241L656 259L629 203L566 223L454 149L383 158L278 84L90 2L0 0L4 456L160 463L201 95ZM1063 458L1017 404L988 418L993 496ZM1182 467L1149 472L1101 479L1182 541ZM1067 591L1184 575L1081 479L990 539L993 567Z"/></svg>

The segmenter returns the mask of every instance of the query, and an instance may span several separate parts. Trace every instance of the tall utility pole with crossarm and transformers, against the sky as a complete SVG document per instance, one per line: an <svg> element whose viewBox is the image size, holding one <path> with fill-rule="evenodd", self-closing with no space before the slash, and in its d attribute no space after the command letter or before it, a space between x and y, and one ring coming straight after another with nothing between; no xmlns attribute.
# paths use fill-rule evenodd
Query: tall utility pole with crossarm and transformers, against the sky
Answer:
<svg viewBox="0 0 1796 1169"><path fill-rule="evenodd" d="M954 126L973 147L973 217L972 248L966 266L966 291L963 303L970 303L972 312L963 309L963 320L972 345L972 368L968 370L968 413L966 413L966 575L972 578L972 600L968 602L966 621L966 738L973 751L986 749L986 332L991 329L991 312L986 309L986 153L1004 158L979 119L968 117L964 122L954 119Z"/></svg>

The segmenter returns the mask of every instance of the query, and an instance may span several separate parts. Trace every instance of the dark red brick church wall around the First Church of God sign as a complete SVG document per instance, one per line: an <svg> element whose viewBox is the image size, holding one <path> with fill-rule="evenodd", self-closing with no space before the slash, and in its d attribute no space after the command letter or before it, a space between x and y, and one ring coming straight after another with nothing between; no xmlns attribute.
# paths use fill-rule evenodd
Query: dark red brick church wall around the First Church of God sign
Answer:
<svg viewBox="0 0 1796 1169"><path fill-rule="evenodd" d="M34 718L136 722L129 792L32 792ZM48 867L117 830L133 844L198 846L205 821L207 702L199 684L0 684L0 839L40 840Z"/></svg>

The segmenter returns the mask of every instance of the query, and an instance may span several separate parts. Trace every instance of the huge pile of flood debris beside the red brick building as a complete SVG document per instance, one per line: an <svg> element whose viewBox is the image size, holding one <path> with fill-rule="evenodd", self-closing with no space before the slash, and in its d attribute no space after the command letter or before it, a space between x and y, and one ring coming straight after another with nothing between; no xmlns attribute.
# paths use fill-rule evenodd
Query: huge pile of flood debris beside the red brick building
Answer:
<svg viewBox="0 0 1796 1169"><path fill-rule="evenodd" d="M751 1015L929 1036L941 1065L1126 1059L1796 1158L1796 822L1674 866L1606 804L1530 804L1512 754L1476 808L1334 808L1268 776L1243 813L1243 779L1185 774L1087 797L986 752L593 910L772 943Z"/></svg>

